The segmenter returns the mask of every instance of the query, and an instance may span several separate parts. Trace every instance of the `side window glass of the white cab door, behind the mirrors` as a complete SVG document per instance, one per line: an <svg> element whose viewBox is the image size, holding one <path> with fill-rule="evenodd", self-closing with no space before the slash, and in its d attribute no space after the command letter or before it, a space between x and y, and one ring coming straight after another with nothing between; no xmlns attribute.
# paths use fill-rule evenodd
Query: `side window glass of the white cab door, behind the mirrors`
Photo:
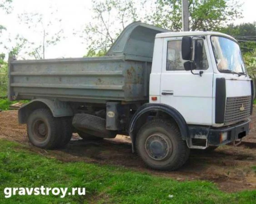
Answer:
<svg viewBox="0 0 256 204"><path fill-rule="evenodd" d="M202 39L193 39L193 58L196 62L198 70L207 69L208 62L206 58L206 51ZM186 60L182 59L181 55L181 40L168 41L167 44L167 60L166 70L185 70L184 63Z"/></svg>

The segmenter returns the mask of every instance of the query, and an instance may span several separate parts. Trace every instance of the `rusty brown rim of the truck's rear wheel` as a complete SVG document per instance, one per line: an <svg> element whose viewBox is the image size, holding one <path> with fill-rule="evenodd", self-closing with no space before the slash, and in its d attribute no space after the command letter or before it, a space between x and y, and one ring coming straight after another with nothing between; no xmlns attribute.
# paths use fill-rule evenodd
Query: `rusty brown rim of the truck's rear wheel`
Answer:
<svg viewBox="0 0 256 204"><path fill-rule="evenodd" d="M44 141L48 136L48 127L44 121L37 119L32 126L33 135L39 141Z"/></svg>

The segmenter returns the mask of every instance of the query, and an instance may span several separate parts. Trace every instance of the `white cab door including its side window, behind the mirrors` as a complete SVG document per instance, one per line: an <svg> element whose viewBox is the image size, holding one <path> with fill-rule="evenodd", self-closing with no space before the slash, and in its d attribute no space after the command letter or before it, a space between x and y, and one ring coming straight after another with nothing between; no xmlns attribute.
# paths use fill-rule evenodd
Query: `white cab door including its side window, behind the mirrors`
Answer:
<svg viewBox="0 0 256 204"><path fill-rule="evenodd" d="M184 69L181 40L182 37L164 40L160 101L180 112L187 124L212 125L213 70L207 41L193 38L195 75Z"/></svg>

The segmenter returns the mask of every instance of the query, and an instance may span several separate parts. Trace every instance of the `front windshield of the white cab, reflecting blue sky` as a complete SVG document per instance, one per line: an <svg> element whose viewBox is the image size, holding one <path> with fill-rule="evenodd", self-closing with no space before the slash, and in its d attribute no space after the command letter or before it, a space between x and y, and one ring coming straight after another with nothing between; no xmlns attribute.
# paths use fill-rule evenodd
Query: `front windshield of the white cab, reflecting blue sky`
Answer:
<svg viewBox="0 0 256 204"><path fill-rule="evenodd" d="M211 36L212 49L220 72L245 73L239 45L231 39Z"/></svg>

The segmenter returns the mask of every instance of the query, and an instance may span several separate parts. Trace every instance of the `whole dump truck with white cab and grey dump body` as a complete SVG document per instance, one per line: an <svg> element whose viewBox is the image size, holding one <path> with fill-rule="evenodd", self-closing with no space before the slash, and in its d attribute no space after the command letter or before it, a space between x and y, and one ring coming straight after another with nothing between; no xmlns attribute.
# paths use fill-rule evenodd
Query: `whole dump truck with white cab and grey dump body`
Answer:
<svg viewBox="0 0 256 204"><path fill-rule="evenodd" d="M16 60L8 97L30 142L61 148L83 139L131 137L149 167L176 170L190 149L214 150L249 133L253 83L236 39L209 31L128 25L106 56ZM204 151L203 151L204 152Z"/></svg>

